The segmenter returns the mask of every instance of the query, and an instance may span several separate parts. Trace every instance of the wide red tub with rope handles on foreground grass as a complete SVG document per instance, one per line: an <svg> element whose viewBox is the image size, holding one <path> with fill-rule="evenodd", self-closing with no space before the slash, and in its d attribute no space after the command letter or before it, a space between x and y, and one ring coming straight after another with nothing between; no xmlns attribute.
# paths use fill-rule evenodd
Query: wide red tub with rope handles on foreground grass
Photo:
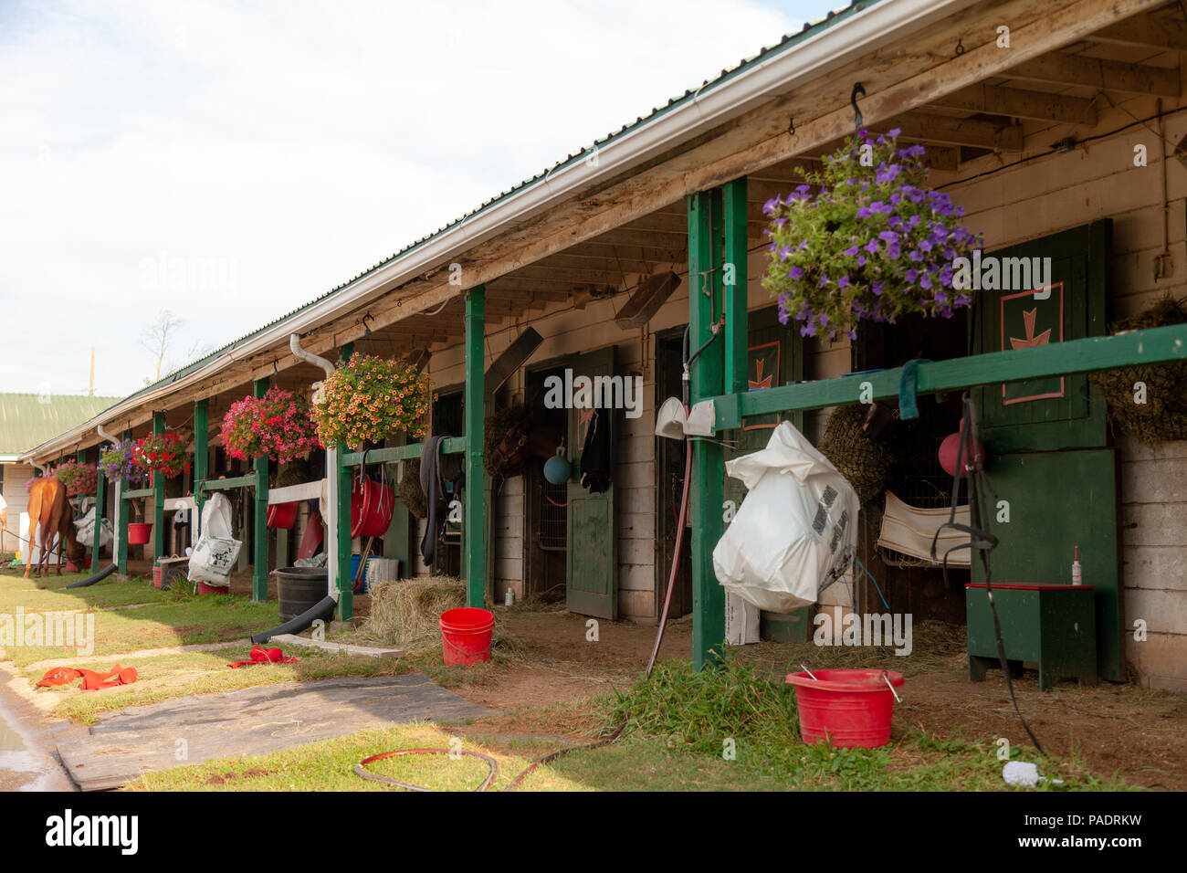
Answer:
<svg viewBox="0 0 1187 873"><path fill-rule="evenodd" d="M788 673L795 687L800 736L814 744L826 736L838 748L877 748L890 741L894 694L902 675L893 670L815 670Z"/></svg>

